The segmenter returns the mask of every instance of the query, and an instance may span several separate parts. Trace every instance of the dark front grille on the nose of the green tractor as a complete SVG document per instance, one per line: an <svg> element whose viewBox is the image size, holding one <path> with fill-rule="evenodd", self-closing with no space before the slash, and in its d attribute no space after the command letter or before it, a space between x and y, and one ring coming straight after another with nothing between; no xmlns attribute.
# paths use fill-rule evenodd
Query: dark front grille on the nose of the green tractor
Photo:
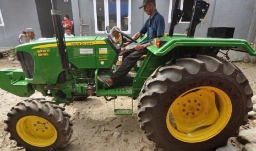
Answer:
<svg viewBox="0 0 256 151"><path fill-rule="evenodd" d="M21 68L25 74L26 78L33 78L34 77L34 60L30 53L17 51L16 52L17 59L20 62Z"/></svg>

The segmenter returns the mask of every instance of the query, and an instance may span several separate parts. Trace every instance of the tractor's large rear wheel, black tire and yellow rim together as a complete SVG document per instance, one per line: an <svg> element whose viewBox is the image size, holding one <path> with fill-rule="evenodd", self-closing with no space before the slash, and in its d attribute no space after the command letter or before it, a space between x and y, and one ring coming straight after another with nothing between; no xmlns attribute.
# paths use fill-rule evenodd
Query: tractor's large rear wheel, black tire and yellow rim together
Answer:
<svg viewBox="0 0 256 151"><path fill-rule="evenodd" d="M166 150L214 150L237 136L252 110L244 74L220 57L167 62L145 82L138 119L149 140Z"/></svg>

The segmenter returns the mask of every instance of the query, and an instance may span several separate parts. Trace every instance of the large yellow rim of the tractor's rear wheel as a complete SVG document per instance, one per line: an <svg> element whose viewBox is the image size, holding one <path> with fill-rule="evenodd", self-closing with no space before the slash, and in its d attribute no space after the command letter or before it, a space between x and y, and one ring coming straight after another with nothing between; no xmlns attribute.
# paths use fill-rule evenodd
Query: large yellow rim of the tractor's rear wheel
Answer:
<svg viewBox="0 0 256 151"><path fill-rule="evenodd" d="M224 91L202 86L184 92L172 103L166 124L178 140L197 143L221 132L231 113L232 103Z"/></svg>

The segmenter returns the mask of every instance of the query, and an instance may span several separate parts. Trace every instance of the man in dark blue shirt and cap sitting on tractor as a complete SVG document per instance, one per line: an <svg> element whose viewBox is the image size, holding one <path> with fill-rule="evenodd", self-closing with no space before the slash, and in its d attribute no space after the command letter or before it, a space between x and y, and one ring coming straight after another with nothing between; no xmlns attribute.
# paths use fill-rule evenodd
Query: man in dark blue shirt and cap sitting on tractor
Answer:
<svg viewBox="0 0 256 151"><path fill-rule="evenodd" d="M164 17L159 14L156 9L156 1L144 0L143 4L139 8L144 8L145 13L150 17L148 20L146 20L141 30L135 33L132 38L137 40L141 34L145 34L146 32L148 33L148 36L146 37L146 40L141 43L141 45L137 45L133 49L124 51L122 65L110 78L104 78L100 76L97 77L101 82L106 83L108 86L112 86L118 82L118 80L125 77L130 69L132 69L135 63L140 59L140 57L148 53L149 50L146 48L151 45L150 39L164 36L165 20ZM132 42L124 43L122 47L126 47L130 43Z"/></svg>

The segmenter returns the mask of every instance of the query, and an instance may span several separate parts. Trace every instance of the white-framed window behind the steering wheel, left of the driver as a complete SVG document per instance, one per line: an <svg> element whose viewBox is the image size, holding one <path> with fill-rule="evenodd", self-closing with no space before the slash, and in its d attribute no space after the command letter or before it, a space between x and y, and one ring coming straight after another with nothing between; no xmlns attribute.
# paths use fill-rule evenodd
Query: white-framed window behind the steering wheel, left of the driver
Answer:
<svg viewBox="0 0 256 151"><path fill-rule="evenodd" d="M118 26L130 33L131 0L94 0L95 33L104 33L106 26Z"/></svg>

